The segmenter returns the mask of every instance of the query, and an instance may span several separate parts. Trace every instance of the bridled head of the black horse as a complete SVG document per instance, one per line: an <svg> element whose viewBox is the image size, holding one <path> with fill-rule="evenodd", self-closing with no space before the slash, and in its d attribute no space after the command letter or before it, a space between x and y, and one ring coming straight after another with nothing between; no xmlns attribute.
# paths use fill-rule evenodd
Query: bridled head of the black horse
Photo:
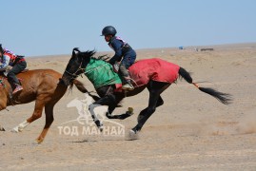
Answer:
<svg viewBox="0 0 256 171"><path fill-rule="evenodd" d="M69 64L62 76L62 83L64 85L70 85L70 82L84 73L85 68L89 63L89 59L94 53L94 50L82 52L77 47L73 48Z"/></svg>

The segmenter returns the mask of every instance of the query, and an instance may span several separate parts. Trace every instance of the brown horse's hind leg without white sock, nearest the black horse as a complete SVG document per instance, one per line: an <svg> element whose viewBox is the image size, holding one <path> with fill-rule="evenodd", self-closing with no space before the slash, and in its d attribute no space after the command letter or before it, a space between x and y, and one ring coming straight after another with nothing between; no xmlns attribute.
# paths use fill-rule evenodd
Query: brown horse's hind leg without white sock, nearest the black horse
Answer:
<svg viewBox="0 0 256 171"><path fill-rule="evenodd" d="M49 126L51 125L51 123L53 122L54 118L53 118L53 107L54 104L46 104L45 107L45 113L46 113L46 124L45 127L43 129L43 131L41 132L41 134L39 135L39 137L36 139L36 142L41 143L44 141L48 130L49 130Z"/></svg>

